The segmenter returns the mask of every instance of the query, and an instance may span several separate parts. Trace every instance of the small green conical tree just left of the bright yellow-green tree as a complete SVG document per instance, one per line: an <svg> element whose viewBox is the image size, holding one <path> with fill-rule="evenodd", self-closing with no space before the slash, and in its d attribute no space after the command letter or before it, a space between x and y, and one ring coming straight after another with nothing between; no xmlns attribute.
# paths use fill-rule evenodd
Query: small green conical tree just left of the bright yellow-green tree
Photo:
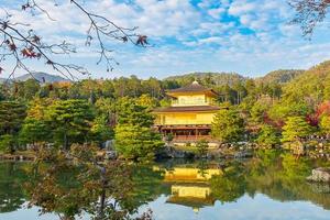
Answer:
<svg viewBox="0 0 330 220"><path fill-rule="evenodd" d="M256 143L264 146L275 146L280 143L278 132L272 125L265 124L262 127Z"/></svg>

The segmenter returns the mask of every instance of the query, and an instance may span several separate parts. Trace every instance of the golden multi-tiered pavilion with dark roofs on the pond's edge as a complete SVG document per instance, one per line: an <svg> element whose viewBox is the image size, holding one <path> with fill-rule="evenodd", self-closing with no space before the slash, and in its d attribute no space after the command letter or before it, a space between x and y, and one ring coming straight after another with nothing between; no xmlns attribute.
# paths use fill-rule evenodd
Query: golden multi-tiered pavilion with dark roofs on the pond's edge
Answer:
<svg viewBox="0 0 330 220"><path fill-rule="evenodd" d="M209 140L211 123L217 111L218 94L194 81L191 85L166 92L172 98L170 107L154 110L155 127L175 140Z"/></svg>

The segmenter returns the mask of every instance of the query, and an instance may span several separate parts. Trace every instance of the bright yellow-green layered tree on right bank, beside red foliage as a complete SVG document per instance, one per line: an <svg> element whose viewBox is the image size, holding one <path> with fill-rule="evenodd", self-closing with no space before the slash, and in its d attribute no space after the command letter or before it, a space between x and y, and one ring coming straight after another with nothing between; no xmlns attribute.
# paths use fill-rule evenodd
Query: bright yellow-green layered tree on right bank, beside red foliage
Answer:
<svg viewBox="0 0 330 220"><path fill-rule="evenodd" d="M311 134L312 128L306 122L304 117L288 117L282 132L282 142L294 142L299 138Z"/></svg>

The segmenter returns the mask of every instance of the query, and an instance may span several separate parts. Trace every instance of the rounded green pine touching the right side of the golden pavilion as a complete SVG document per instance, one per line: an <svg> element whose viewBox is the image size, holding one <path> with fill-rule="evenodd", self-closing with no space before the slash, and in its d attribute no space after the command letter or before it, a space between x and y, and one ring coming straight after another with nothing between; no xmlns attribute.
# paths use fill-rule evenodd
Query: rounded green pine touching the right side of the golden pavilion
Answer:
<svg viewBox="0 0 330 220"><path fill-rule="evenodd" d="M237 110L220 110L212 122L211 133L224 143L240 141L244 134L244 120Z"/></svg>

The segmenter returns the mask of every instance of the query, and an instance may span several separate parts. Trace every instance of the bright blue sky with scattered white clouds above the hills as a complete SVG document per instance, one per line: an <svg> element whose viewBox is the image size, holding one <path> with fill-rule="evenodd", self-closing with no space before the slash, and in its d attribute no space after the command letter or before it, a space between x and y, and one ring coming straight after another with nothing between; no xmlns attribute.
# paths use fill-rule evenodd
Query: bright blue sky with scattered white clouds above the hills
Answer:
<svg viewBox="0 0 330 220"><path fill-rule="evenodd" d="M56 9L52 1L36 1L51 9L56 21L44 14L21 13L16 2L23 0L0 3L13 14L12 20L33 19L32 28L45 41L75 43L80 53L58 58L86 66L95 78L132 74L164 78L188 72L237 72L256 77L279 68L308 68L330 59L329 22L317 28L311 41L304 38L299 26L288 24L294 12L286 0L81 0L90 10L122 26L139 26L138 32L146 34L154 45L141 48L108 42L120 65L107 73L105 66L96 65L95 50L84 45L84 14L68 0L57 0ZM33 66L52 73L42 63Z"/></svg>

